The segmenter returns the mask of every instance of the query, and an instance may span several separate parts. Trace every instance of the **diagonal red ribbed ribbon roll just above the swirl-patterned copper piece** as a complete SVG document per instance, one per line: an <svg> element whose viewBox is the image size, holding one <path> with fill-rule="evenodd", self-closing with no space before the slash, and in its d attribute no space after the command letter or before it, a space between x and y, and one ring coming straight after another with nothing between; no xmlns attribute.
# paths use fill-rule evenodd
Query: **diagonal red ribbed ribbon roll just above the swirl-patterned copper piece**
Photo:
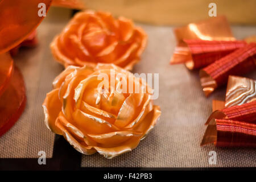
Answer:
<svg viewBox="0 0 256 182"><path fill-rule="evenodd" d="M237 49L200 70L205 96L228 81L229 75L242 75L256 68L256 43Z"/></svg>

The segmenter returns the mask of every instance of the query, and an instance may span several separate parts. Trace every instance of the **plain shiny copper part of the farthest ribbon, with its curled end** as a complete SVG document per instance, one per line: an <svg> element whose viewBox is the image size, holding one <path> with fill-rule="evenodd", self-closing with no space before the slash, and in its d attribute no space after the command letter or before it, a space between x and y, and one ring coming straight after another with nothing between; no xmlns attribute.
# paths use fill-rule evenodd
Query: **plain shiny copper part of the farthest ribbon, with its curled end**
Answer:
<svg viewBox="0 0 256 182"><path fill-rule="evenodd" d="M225 16L217 16L202 20L196 23L189 23L187 26L178 27L174 30L177 46L172 55L170 64L180 64L191 61L191 52L185 39L197 40L236 40L229 27Z"/></svg>

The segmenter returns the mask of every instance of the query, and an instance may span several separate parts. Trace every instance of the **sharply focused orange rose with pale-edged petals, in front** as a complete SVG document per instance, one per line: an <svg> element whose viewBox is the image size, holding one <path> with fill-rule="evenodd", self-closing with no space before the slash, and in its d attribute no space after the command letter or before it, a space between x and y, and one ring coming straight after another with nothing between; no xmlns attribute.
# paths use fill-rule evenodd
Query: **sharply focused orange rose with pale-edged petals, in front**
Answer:
<svg viewBox="0 0 256 182"><path fill-rule="evenodd" d="M147 83L114 64L69 66L53 88L43 103L46 125L82 154L131 151L160 117Z"/></svg>

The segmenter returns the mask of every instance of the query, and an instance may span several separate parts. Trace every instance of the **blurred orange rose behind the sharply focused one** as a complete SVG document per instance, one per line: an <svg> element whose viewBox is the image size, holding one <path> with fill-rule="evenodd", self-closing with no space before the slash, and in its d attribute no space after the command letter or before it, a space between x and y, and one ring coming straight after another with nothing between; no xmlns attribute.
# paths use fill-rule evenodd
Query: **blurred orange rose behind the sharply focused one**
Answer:
<svg viewBox="0 0 256 182"><path fill-rule="evenodd" d="M112 63L130 70L140 60L147 35L130 19L110 13L77 13L51 43L53 56L65 67Z"/></svg>

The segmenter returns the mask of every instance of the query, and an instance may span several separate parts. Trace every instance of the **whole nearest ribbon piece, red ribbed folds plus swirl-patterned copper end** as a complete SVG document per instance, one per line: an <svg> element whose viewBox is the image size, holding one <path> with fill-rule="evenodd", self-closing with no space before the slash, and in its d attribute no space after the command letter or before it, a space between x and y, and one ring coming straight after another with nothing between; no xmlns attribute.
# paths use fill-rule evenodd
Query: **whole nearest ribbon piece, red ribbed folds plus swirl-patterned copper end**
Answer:
<svg viewBox="0 0 256 182"><path fill-rule="evenodd" d="M201 146L256 147L255 80L229 76L226 101L213 100Z"/></svg>

